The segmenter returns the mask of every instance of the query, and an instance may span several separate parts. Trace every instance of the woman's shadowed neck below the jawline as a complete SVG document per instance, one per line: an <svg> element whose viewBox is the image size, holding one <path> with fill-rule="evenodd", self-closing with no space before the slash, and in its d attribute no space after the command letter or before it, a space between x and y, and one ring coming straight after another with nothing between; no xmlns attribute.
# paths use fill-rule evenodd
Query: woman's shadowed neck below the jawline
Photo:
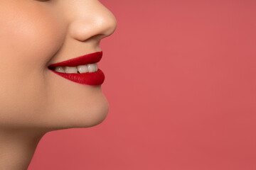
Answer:
<svg viewBox="0 0 256 170"><path fill-rule="evenodd" d="M0 128L0 169L26 170L46 132Z"/></svg>

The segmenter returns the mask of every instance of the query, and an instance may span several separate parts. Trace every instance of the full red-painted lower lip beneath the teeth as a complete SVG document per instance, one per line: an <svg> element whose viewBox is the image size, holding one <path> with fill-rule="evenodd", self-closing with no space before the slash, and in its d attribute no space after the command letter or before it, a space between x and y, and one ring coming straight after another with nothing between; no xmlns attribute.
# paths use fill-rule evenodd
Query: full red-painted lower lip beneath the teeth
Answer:
<svg viewBox="0 0 256 170"><path fill-rule="evenodd" d="M90 86L99 86L103 84L105 80L105 75L100 69L98 69L97 72L86 72L81 74L55 72L51 69L50 71L58 74L60 77L64 77L65 79L74 81L75 83L86 84Z"/></svg>

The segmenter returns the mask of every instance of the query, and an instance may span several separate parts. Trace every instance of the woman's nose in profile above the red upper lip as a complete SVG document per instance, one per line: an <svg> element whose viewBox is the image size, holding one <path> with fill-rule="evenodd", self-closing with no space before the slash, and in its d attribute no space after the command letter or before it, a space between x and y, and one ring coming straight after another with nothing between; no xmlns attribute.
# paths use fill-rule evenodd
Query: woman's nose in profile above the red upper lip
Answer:
<svg viewBox="0 0 256 170"><path fill-rule="evenodd" d="M112 35L117 28L117 20L105 6L97 0L72 1L70 18L70 36L79 41L92 37L99 40Z"/></svg>

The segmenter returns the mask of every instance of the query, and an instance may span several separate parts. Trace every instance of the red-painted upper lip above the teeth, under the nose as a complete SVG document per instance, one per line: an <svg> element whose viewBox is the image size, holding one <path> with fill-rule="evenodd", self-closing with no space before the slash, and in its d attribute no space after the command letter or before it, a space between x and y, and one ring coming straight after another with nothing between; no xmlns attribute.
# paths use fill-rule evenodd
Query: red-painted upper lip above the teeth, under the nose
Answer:
<svg viewBox="0 0 256 170"><path fill-rule="evenodd" d="M63 62L50 64L48 66L48 68L52 69L53 67L76 67L79 65L92 64L95 62L100 62L101 58L102 58L102 51L94 52L94 53L91 53L88 55L82 55L80 57L75 57L70 60L65 60Z"/></svg>

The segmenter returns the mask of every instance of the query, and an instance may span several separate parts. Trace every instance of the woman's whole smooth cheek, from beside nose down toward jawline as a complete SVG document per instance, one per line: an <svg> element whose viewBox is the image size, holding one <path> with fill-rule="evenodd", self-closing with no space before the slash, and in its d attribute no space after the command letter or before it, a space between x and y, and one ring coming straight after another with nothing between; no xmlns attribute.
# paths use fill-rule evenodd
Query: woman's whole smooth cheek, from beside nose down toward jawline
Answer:
<svg viewBox="0 0 256 170"><path fill-rule="evenodd" d="M2 114L24 111L31 118L29 114L43 106L47 94L43 71L64 39L65 26L49 9L32 1L0 3Z"/></svg>

